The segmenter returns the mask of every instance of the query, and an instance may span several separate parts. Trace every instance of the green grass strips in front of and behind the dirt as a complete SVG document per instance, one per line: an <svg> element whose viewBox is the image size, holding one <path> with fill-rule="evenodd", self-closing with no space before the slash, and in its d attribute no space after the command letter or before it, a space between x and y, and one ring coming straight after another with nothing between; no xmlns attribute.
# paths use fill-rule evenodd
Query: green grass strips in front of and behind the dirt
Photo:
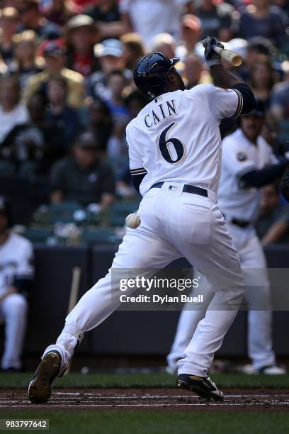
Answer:
<svg viewBox="0 0 289 434"><path fill-rule="evenodd" d="M32 374L0 374L0 389L26 389ZM289 375L216 374L220 389L289 389ZM69 374L55 388L174 387L169 374ZM57 408L7 410L0 418L49 419L52 434L275 434L288 433L289 412L260 411L74 411Z"/></svg>

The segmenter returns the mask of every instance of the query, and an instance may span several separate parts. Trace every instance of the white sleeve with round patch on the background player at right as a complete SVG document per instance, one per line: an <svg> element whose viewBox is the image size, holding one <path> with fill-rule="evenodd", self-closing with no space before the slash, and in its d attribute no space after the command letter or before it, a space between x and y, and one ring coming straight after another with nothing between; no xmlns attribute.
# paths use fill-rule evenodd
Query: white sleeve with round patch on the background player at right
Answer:
<svg viewBox="0 0 289 434"><path fill-rule="evenodd" d="M226 167L226 172L238 179L256 169L242 145L231 137L222 141L222 164Z"/></svg>

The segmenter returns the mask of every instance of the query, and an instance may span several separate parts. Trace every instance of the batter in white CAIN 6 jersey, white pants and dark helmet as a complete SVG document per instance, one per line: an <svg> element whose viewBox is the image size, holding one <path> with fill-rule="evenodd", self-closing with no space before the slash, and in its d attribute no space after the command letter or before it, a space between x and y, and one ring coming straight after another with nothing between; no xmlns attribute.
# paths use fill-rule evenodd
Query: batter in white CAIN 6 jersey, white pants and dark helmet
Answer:
<svg viewBox="0 0 289 434"><path fill-rule="evenodd" d="M106 277L84 294L56 344L46 348L30 381L30 401L49 399L53 380L66 369L84 332L120 305L112 269L162 269L179 257L205 274L215 291L210 306L219 310L208 309L198 324L180 362L177 384L208 399L223 399L208 369L234 321L244 282L237 250L217 207L219 123L251 111L255 99L246 84L222 67L213 43L219 42L207 38L205 59L226 89L202 84L185 90L174 67L179 59L161 52L149 52L137 62L134 81L149 102L126 133L132 179L142 195L137 211L142 223L127 230Z"/></svg>

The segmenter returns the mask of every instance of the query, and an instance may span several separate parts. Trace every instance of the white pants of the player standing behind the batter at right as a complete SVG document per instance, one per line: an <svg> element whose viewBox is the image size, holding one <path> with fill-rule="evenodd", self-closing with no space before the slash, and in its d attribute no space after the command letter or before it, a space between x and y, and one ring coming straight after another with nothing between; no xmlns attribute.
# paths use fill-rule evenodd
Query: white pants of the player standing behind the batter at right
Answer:
<svg viewBox="0 0 289 434"><path fill-rule="evenodd" d="M266 258L254 228L239 228L227 224L237 247L241 266L244 272L245 299L248 304L248 352L254 369L273 365L275 354L272 350L272 311L271 290L266 269ZM211 299L210 285L202 279L198 293L203 294L204 303ZM195 292L196 292L195 291ZM264 310L263 310L264 309ZM178 360L183 357L184 350L191 340L191 335L198 322L205 316L203 308L191 310L183 307L171 352L167 357L171 371L174 371Z"/></svg>

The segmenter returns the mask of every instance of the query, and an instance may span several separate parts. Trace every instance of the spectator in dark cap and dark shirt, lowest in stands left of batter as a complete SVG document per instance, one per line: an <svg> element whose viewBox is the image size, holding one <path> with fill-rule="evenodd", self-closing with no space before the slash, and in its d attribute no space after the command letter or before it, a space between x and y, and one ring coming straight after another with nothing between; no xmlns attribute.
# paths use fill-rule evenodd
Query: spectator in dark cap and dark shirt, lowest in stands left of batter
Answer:
<svg viewBox="0 0 289 434"><path fill-rule="evenodd" d="M74 154L55 163L50 174L51 201L77 201L84 206L99 204L104 210L113 203L113 171L101 159L93 135L84 133L74 145Z"/></svg>

